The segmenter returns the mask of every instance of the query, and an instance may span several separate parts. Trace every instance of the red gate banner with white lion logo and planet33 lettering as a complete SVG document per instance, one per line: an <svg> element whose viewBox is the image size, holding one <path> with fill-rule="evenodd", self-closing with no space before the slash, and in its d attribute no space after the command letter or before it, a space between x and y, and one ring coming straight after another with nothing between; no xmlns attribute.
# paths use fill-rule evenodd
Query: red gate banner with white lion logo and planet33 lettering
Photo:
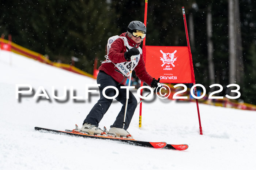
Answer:
<svg viewBox="0 0 256 170"><path fill-rule="evenodd" d="M146 69L161 83L195 83L188 47L146 46Z"/></svg>

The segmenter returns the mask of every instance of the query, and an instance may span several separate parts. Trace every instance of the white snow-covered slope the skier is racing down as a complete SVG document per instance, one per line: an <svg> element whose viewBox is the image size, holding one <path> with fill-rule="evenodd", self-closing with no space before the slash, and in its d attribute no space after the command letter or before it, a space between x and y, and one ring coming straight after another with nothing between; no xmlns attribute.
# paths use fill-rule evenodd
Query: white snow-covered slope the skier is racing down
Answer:
<svg viewBox="0 0 256 170"><path fill-rule="evenodd" d="M10 58L12 63L10 65ZM33 95L15 98L15 84L42 86L50 99ZM82 122L98 100L98 91L85 98L85 85L95 79L74 74L14 53L0 51L0 169L177 169L226 170L256 167L256 112L199 104L203 135L195 103L156 98L143 102L128 131L142 141L188 144L186 151L151 149L114 141L85 139L35 131L34 127L65 130ZM63 95L64 86L83 96L60 103L52 86ZM144 94L146 95L146 94ZM149 99L148 99L149 100ZM61 100L63 101L63 100ZM99 124L114 122L121 104L113 102Z"/></svg>

